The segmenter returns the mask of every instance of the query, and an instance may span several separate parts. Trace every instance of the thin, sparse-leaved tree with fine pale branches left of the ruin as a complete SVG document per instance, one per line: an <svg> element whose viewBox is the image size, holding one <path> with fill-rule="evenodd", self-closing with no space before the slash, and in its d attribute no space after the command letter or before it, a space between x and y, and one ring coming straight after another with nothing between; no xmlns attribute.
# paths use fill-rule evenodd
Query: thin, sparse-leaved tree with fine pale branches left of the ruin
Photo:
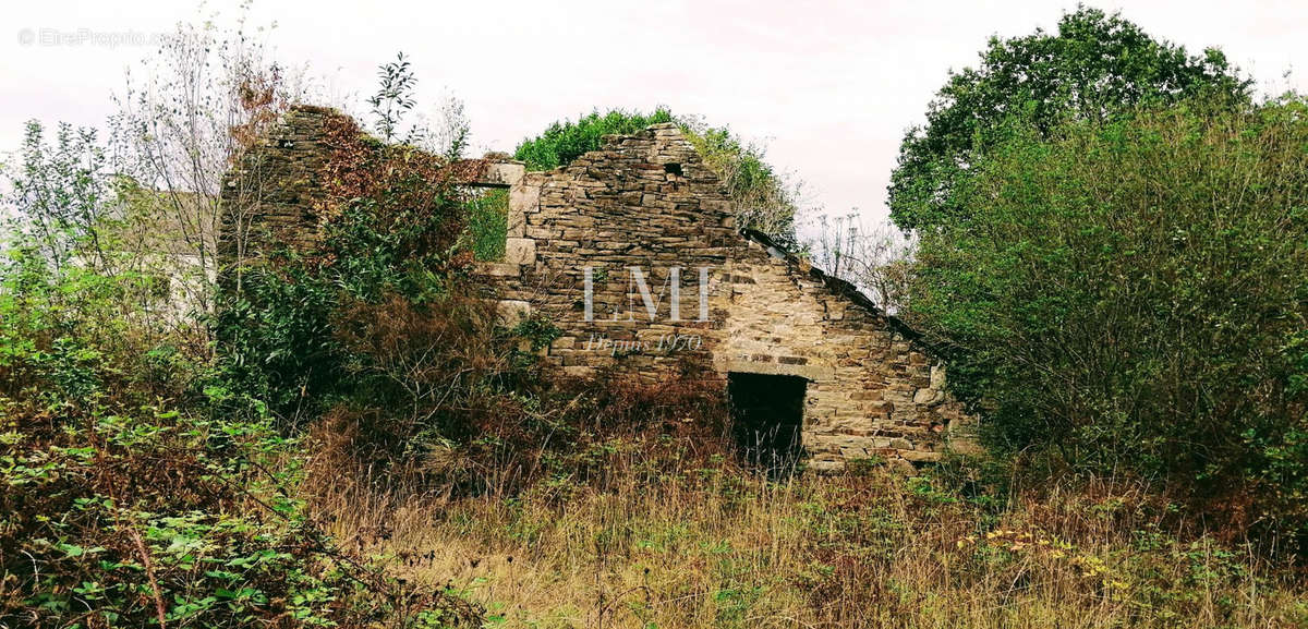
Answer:
<svg viewBox="0 0 1308 629"><path fill-rule="evenodd" d="M213 305L220 224L247 222L266 183L245 178L255 184L225 188L224 175L303 95L247 29L247 9L234 27L179 24L141 71L128 73L109 120L112 171L133 182L136 200L150 197L136 209L188 259L170 275L200 311ZM235 203L224 203L225 195ZM234 231L228 237L239 239Z"/></svg>

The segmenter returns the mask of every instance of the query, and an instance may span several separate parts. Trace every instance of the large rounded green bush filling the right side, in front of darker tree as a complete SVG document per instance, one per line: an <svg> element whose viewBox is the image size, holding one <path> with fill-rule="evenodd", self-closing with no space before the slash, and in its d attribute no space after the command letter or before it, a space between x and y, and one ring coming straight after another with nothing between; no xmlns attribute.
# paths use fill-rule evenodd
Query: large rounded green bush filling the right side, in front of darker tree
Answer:
<svg viewBox="0 0 1308 629"><path fill-rule="evenodd" d="M912 299L991 443L1308 531L1308 105L1027 129L923 234Z"/></svg>

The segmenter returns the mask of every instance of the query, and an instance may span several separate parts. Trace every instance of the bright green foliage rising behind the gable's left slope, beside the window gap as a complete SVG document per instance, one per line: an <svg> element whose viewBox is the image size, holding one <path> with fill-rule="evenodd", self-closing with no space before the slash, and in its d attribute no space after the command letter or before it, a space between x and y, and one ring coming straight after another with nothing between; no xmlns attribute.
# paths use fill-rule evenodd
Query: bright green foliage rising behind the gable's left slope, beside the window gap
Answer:
<svg viewBox="0 0 1308 629"><path fill-rule="evenodd" d="M527 163L527 170L549 170L565 166L590 150L598 150L603 136L634 133L650 124L672 122L672 112L658 107L651 114L612 110L590 115L577 122L553 123L544 133L523 140L514 150L514 160Z"/></svg>

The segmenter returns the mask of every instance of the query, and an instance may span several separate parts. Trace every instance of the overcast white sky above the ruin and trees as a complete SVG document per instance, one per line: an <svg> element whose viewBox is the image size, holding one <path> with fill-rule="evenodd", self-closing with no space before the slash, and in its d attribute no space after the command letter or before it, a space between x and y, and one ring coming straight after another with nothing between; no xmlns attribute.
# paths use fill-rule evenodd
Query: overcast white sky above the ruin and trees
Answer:
<svg viewBox="0 0 1308 629"><path fill-rule="evenodd" d="M43 46L63 33L167 33L235 0L0 0L0 152L31 118L99 124L128 65L148 46ZM335 4L335 5L334 5ZM1305 92L1308 1L1135 0L1122 9L1192 51L1218 46L1265 92ZM420 107L462 98L476 149L513 150L560 118L594 107L667 105L765 140L770 161L807 182L832 213L886 214L886 184L905 128L950 68L972 65L986 38L1052 29L1075 1L371 1L256 0L251 24L309 64L335 98L369 94L378 63L403 50ZM222 21L222 20L220 20ZM24 30L37 41L24 43Z"/></svg>

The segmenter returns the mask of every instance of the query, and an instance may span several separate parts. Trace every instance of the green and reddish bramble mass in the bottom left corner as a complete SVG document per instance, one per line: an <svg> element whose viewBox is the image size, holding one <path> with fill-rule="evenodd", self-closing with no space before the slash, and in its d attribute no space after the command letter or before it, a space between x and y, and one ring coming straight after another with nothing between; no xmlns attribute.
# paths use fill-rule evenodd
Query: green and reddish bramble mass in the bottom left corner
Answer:
<svg viewBox="0 0 1308 629"><path fill-rule="evenodd" d="M0 625L479 617L324 536L293 494L297 442L224 412L233 394L205 356L132 311L135 276L52 269L37 251L0 268Z"/></svg>

